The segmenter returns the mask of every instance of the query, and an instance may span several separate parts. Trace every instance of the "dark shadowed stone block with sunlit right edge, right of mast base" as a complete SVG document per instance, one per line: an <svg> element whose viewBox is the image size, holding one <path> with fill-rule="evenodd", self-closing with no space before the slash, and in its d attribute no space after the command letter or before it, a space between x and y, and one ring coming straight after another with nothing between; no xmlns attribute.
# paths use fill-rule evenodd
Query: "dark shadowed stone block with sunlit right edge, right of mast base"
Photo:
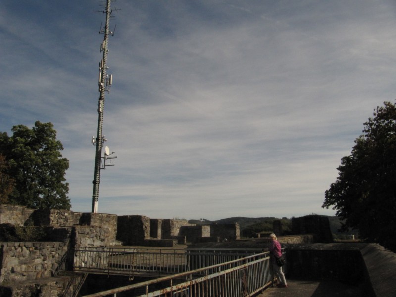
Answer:
<svg viewBox="0 0 396 297"><path fill-rule="evenodd" d="M141 215L123 215L117 218L117 240L123 245L144 245L150 239L150 218Z"/></svg>

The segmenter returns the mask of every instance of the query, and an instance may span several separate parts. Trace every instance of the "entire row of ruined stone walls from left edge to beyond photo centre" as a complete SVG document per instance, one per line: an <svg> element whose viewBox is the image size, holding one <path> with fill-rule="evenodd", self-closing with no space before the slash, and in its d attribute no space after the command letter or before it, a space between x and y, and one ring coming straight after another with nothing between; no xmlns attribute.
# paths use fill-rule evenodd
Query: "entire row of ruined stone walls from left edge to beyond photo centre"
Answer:
<svg viewBox="0 0 396 297"><path fill-rule="evenodd" d="M53 276L62 257L72 258L71 247L114 245L175 246L197 237L239 237L234 226L189 224L187 220L150 219L146 216L117 216L69 210L33 210L24 206L0 205L0 223L23 226L31 219L43 227L47 242L4 242L0 253L0 283L35 280ZM152 239L151 239L152 238ZM181 240L184 238L184 241Z"/></svg>

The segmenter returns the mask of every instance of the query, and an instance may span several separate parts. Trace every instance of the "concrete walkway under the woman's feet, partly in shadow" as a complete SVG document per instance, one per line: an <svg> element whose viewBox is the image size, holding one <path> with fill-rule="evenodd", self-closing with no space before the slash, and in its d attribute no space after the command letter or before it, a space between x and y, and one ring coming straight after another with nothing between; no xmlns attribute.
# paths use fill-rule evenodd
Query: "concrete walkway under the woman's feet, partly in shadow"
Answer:
<svg viewBox="0 0 396 297"><path fill-rule="evenodd" d="M288 288L269 287L257 297L357 297L361 288L337 281L288 280Z"/></svg>

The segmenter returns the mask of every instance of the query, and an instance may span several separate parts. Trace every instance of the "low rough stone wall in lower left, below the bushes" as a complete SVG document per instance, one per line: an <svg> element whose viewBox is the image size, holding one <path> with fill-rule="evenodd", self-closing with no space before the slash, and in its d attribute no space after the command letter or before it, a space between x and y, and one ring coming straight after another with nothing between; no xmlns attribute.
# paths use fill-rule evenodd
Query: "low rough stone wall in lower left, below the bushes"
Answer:
<svg viewBox="0 0 396 297"><path fill-rule="evenodd" d="M66 253L63 242L1 243L0 283L53 276Z"/></svg>

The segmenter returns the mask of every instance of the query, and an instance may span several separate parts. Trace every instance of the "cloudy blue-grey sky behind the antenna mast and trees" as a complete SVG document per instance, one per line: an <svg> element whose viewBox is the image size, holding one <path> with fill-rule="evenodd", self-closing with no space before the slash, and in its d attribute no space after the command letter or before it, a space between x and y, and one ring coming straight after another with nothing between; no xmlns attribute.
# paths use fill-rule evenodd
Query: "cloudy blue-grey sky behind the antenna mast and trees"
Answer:
<svg viewBox="0 0 396 297"><path fill-rule="evenodd" d="M51 122L91 212L102 0L2 0L0 131ZM299 217L396 94L396 1L117 0L98 212Z"/></svg>

